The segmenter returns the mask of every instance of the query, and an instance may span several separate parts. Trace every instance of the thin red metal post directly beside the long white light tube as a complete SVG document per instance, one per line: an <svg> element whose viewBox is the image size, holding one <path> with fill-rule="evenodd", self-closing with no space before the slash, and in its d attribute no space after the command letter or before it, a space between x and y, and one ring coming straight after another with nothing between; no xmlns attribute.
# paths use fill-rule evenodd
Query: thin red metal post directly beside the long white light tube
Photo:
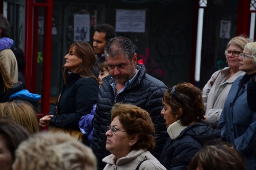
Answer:
<svg viewBox="0 0 256 170"><path fill-rule="evenodd" d="M196 71L196 53L197 53L197 23L198 23L199 0L194 0L194 25L193 25L193 43L192 43L192 58L191 58L191 75L190 82L195 85Z"/></svg>

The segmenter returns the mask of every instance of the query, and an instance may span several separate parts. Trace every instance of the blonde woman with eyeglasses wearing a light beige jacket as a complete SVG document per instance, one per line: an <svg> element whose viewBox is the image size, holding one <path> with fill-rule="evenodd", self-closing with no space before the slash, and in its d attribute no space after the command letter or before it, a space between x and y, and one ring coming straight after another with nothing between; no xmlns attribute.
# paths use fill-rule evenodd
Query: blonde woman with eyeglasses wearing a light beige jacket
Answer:
<svg viewBox="0 0 256 170"><path fill-rule="evenodd" d="M239 70L239 55L250 40L237 36L232 38L225 50L228 67L213 73L210 80L203 87L203 103L205 105L205 121L213 129L217 128L219 116L224 107L232 83L245 72Z"/></svg>

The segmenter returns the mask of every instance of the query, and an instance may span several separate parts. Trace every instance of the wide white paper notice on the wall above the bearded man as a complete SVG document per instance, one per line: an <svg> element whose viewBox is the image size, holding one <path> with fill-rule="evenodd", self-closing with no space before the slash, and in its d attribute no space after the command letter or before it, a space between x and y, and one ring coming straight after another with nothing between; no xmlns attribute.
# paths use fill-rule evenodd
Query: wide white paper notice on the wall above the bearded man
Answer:
<svg viewBox="0 0 256 170"><path fill-rule="evenodd" d="M116 32L145 32L146 10L117 10Z"/></svg>

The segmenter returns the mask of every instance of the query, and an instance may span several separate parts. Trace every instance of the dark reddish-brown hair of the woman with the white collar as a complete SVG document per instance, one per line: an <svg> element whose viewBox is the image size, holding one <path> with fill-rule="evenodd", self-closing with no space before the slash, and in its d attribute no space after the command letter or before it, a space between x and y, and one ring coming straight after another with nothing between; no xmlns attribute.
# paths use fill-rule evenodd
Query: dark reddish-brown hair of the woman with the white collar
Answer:
<svg viewBox="0 0 256 170"><path fill-rule="evenodd" d="M192 122L204 120L202 91L191 83L179 83L173 88L180 103L171 95L172 88L165 91L163 102L171 106L172 115L180 115L179 108L182 109L180 124L188 126Z"/></svg>

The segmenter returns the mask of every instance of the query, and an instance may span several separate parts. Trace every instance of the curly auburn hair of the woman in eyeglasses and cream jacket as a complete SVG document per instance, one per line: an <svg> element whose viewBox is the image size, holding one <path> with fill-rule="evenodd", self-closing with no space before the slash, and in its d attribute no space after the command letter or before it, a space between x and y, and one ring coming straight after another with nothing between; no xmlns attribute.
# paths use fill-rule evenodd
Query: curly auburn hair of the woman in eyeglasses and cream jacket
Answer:
<svg viewBox="0 0 256 170"><path fill-rule="evenodd" d="M133 145L132 150L153 150L155 127L146 110L135 105L117 103L112 108L112 120L116 116L119 116L118 119L128 135L139 134L139 140Z"/></svg>

